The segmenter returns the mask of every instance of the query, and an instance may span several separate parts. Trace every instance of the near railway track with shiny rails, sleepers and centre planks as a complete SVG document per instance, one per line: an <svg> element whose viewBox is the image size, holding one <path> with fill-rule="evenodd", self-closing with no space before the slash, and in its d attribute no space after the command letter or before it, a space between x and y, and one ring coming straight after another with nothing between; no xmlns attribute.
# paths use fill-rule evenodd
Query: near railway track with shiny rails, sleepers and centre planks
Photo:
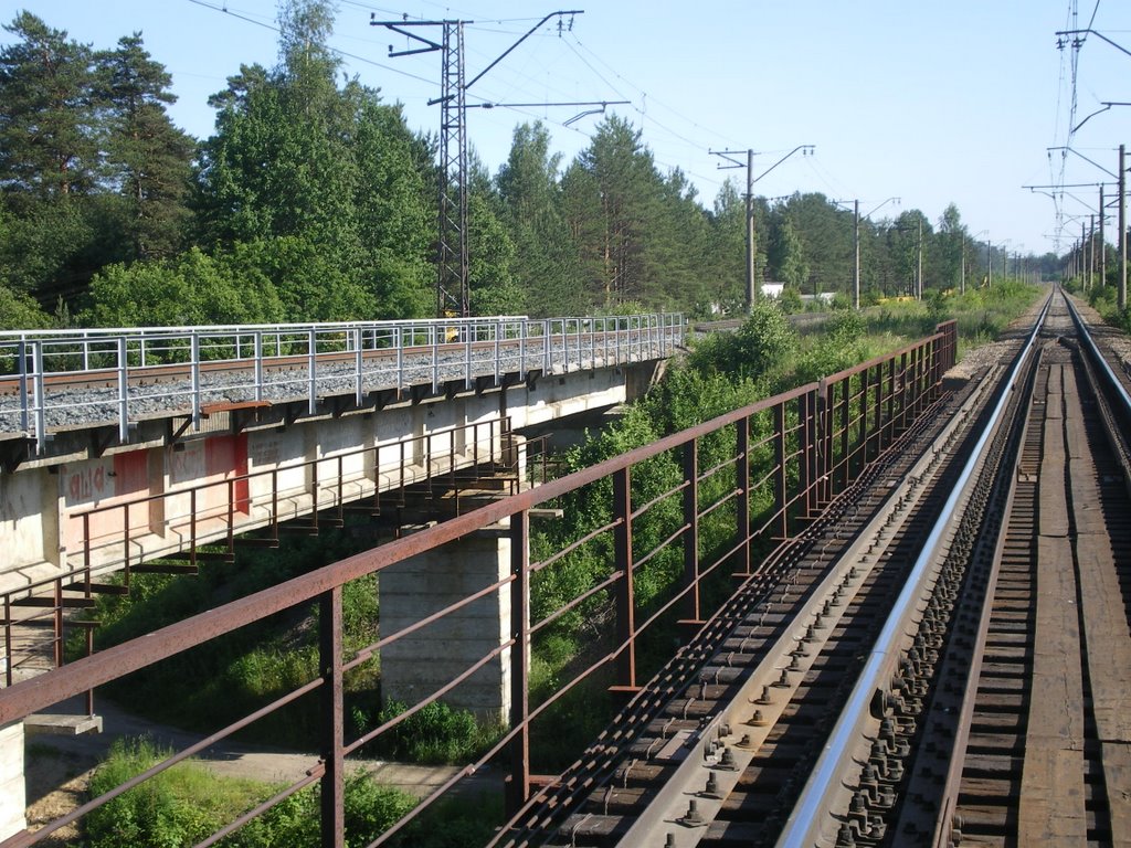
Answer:
<svg viewBox="0 0 1131 848"><path fill-rule="evenodd" d="M763 563L495 843L1131 843L1122 413L1090 393L1059 293L1039 327Z"/></svg>

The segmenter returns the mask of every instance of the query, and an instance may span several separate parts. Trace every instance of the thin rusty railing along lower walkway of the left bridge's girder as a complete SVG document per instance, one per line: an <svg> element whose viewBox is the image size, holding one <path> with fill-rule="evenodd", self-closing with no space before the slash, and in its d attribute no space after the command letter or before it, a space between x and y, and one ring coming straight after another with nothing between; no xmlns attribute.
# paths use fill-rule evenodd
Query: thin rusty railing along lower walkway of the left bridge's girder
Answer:
<svg viewBox="0 0 1131 848"><path fill-rule="evenodd" d="M145 570L153 560L183 559L182 570L196 573L198 560L216 559L217 555L216 552L200 553L201 546L219 545L224 548L223 556L231 561L240 534L266 534L257 544L275 547L284 523L296 529L296 519L305 518L303 529L317 534L320 526L340 527L347 509L364 508L370 514L379 516L382 508L405 505L411 486L418 486L424 497L433 497L441 491L458 493L463 487L474 487L481 475L498 481L500 473L508 473L509 491L515 492L520 486L516 449L510 419L490 418L329 457L174 487L68 516L67 520L80 528L78 566L0 592L3 607L0 625L7 658L5 684L12 685L20 669L45 652L54 666L61 666L68 629L87 631L89 652L90 630L95 624L66 617L64 613L68 608L93 606L96 591L119 589L98 585L100 577L122 572L120 590L124 592L129 590L133 573ZM364 471L347 473L347 465L359 464ZM303 479L297 490L280 485L280 478L294 476ZM285 511L284 501L290 504ZM116 531L97 531L100 518L110 518ZM153 568L174 570L169 565ZM17 611L24 614L17 615ZM38 639L25 637L17 648L14 628L44 635ZM90 709L89 696L87 703Z"/></svg>

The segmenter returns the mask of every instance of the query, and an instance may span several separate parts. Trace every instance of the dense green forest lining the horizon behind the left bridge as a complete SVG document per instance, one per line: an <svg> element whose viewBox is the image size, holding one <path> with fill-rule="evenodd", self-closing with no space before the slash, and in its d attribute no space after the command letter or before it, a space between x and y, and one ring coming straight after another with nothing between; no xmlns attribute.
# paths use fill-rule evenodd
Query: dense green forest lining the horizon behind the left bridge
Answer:
<svg viewBox="0 0 1131 848"><path fill-rule="evenodd" d="M343 77L333 25L328 0L284 0L276 67L241 66L198 140L172 123L171 77L141 34L95 49L29 11L7 24L0 328L429 315L435 138ZM472 168L474 313L742 308L742 194L726 183L706 206L629 121L603 120L571 162L524 123L498 173ZM791 296L849 291L851 210L758 198L754 223L759 278ZM860 240L865 301L912 293L921 267L924 289L946 289L986 265L953 205L935 223L864 218Z"/></svg>

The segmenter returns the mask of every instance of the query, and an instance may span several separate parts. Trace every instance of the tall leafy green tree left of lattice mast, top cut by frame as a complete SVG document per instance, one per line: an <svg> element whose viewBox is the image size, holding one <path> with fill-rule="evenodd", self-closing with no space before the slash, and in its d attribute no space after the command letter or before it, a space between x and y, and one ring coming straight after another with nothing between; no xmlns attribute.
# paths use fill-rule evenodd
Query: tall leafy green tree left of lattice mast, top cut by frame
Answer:
<svg viewBox="0 0 1131 848"><path fill-rule="evenodd" d="M205 239L261 245L256 265L290 320L420 314L431 300L434 197L423 142L377 92L337 86L329 3L291 2L280 24L280 66L244 67L213 97L216 133L199 172Z"/></svg>

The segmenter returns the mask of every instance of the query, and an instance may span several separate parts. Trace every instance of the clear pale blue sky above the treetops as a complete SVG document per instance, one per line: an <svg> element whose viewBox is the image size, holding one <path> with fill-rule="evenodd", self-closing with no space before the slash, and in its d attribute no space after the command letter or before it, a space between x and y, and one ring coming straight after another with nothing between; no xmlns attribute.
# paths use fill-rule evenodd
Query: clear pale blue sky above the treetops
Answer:
<svg viewBox="0 0 1131 848"><path fill-rule="evenodd" d="M0 0L8 23L28 8L95 47L140 31L153 57L173 75L180 101L173 120L210 135L209 94L240 63L277 57L275 0ZM987 230L1010 251L1043 253L1056 243L1056 204L1024 184L1095 183L1111 179L1087 157L1116 171L1121 141L1131 144L1131 106L1089 119L1064 145L1076 79L1074 123L1105 101L1131 102L1131 55L1090 36L1078 51L1056 49L1071 28L1072 0L592 0L573 6L466 0L412 0L404 6L339 0L333 44L346 70L388 101L404 103L414 129L435 130L438 54L389 59L404 38L369 25L379 19L460 18L467 79L485 68L543 15L584 9L561 37L539 31L468 92L468 103L628 99L616 111L644 131L664 168L681 167L710 206L723 179L709 149L765 152L769 167L797 145L815 145L756 185L768 197L820 191L861 199L877 218L920 208L938 220L958 205L972 233ZM1076 26L1131 49L1131 2L1078 0ZM213 8L209 8L213 7ZM223 11L226 9L227 11ZM1093 15L1095 18L1093 19ZM8 33L0 33L3 42ZM1073 54L1076 69L1073 72ZM353 58L353 57L360 57ZM516 123L543 119L554 146L575 155L599 116L564 123L579 109L473 109L469 138L495 172ZM1067 158L1065 158L1067 157ZM1096 189L1072 189L1060 202L1069 246L1077 216L1097 206ZM1111 190L1110 193L1114 193ZM1114 232L1114 210L1111 231ZM985 236L983 236L985 237Z"/></svg>

